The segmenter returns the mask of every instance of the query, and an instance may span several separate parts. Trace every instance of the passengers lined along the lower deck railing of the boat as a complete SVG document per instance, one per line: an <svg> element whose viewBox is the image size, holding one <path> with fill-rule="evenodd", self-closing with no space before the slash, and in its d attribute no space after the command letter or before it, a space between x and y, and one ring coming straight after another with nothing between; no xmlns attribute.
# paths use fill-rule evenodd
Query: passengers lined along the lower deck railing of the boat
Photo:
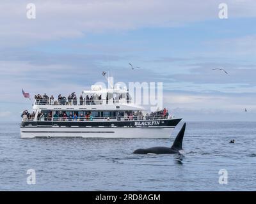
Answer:
<svg viewBox="0 0 256 204"><path fill-rule="evenodd" d="M163 110L157 111L157 112L151 112L150 114L146 114L145 115L145 119L146 120L150 120L150 119L168 119L169 113L168 110L166 108L164 108ZM21 115L23 120L33 120L35 118L35 112L33 113L29 113L28 110L24 110L24 112ZM121 119L121 115L119 112L117 112L116 114L116 119L120 120ZM37 119L44 121L44 120L63 120L63 121L92 121L93 120L93 116L92 116L92 112L86 112L85 114L80 113L80 115L77 115L75 112L72 113L66 113L66 112L55 112L52 115L52 112L49 113L38 113L37 115ZM109 117L106 117L107 120L110 120ZM125 112L124 113L124 120L144 120L144 115L141 111L137 111L137 112Z"/></svg>

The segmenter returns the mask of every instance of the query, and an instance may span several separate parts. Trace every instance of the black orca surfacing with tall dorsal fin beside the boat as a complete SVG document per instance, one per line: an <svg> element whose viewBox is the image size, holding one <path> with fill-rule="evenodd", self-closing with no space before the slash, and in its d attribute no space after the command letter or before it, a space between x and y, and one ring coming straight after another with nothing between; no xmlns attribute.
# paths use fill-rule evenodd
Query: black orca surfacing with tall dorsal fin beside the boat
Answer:
<svg viewBox="0 0 256 204"><path fill-rule="evenodd" d="M136 149L134 154L182 154L184 151L182 149L183 136L186 129L186 123L183 124L178 135L176 136L172 147L150 147L147 149Z"/></svg>

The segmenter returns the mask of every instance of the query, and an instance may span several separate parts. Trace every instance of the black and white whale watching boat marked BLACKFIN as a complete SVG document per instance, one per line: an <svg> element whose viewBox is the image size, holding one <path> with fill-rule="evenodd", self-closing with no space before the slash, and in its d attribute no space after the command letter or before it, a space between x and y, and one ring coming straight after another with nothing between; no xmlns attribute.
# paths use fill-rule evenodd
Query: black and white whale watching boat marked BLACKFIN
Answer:
<svg viewBox="0 0 256 204"><path fill-rule="evenodd" d="M125 88L92 85L80 98L35 96L33 113L22 114L21 138L169 138L180 122L172 115L147 113Z"/></svg>

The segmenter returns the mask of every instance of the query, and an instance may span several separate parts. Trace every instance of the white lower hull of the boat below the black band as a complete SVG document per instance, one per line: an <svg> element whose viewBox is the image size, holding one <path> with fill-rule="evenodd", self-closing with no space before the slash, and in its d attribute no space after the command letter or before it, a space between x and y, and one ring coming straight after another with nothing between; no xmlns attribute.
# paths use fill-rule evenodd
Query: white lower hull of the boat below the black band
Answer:
<svg viewBox="0 0 256 204"><path fill-rule="evenodd" d="M169 138L170 128L20 128L20 138L82 137L82 138Z"/></svg>

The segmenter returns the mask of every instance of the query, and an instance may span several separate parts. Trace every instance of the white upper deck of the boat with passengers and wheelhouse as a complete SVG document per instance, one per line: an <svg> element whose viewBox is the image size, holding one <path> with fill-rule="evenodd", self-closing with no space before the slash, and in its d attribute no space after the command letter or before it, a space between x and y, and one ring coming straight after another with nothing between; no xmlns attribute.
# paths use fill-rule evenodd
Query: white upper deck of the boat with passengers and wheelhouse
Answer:
<svg viewBox="0 0 256 204"><path fill-rule="evenodd" d="M144 110L142 106L133 103L129 92L125 89L102 89L92 85L92 90L83 91L77 97L75 93L68 97L59 95L58 98L35 96L34 109L58 110Z"/></svg>

